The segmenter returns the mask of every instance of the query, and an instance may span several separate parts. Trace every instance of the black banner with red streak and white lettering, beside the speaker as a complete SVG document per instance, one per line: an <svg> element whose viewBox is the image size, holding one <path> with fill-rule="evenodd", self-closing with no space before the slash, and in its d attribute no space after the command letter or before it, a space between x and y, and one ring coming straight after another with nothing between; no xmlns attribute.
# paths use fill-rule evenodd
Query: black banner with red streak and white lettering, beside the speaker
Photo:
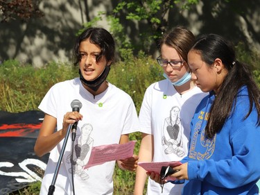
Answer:
<svg viewBox="0 0 260 195"><path fill-rule="evenodd" d="M49 158L33 151L44 118L40 111L0 111L0 195L42 180Z"/></svg>

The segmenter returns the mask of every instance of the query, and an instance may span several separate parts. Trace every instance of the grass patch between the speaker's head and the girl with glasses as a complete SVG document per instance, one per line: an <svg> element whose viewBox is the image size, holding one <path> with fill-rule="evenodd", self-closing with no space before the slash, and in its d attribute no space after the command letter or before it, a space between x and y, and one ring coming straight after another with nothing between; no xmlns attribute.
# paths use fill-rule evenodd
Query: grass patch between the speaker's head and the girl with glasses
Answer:
<svg viewBox="0 0 260 195"><path fill-rule="evenodd" d="M107 80L130 94L139 112L146 88L163 78L162 69L153 58L145 56L141 51L138 58L128 53L124 55L124 61L112 66Z"/></svg>

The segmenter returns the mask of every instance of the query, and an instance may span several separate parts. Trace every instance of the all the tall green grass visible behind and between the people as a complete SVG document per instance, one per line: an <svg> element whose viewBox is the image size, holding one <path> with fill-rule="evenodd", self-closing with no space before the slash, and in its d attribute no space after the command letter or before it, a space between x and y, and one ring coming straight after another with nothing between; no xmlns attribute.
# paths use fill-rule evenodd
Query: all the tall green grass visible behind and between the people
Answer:
<svg viewBox="0 0 260 195"><path fill-rule="evenodd" d="M254 67L254 78L260 86L259 53L245 51L243 44L236 46L236 51L239 60ZM107 80L130 94L139 112L146 88L157 80L163 79L162 69L143 51L139 51L138 56L134 56L130 50L122 49L122 56L123 61L112 64ZM16 60L8 60L0 65L0 74L0 93L2 94L0 110L23 112L37 110L37 106L49 88L60 81L77 77L78 67L50 62L39 69L21 64ZM141 133L132 133L130 139L137 140L135 154L138 154ZM115 195L132 194L135 173L122 171L116 166L113 178ZM21 189L17 194L37 194L39 187L40 182L33 183L32 186Z"/></svg>

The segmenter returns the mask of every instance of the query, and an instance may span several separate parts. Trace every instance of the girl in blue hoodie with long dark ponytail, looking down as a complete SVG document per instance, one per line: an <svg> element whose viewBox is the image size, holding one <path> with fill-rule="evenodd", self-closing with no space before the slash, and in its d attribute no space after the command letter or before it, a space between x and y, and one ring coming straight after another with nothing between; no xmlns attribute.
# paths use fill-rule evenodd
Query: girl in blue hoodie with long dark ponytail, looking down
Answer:
<svg viewBox="0 0 260 195"><path fill-rule="evenodd" d="M196 41L188 63L191 78L209 95L191 121L189 154L171 176L185 180L185 195L258 194L260 91L250 70L214 34Z"/></svg>

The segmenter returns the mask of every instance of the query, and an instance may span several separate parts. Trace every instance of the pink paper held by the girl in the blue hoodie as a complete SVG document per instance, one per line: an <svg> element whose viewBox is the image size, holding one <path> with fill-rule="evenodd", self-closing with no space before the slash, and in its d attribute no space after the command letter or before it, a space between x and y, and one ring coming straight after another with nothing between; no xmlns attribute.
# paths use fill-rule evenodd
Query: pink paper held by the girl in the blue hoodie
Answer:
<svg viewBox="0 0 260 195"><path fill-rule="evenodd" d="M171 161L171 162L138 162L137 164L140 167L143 167L148 172L155 172L159 174L163 166L177 167L182 163L180 161ZM167 180L176 180L176 178L168 176Z"/></svg>

